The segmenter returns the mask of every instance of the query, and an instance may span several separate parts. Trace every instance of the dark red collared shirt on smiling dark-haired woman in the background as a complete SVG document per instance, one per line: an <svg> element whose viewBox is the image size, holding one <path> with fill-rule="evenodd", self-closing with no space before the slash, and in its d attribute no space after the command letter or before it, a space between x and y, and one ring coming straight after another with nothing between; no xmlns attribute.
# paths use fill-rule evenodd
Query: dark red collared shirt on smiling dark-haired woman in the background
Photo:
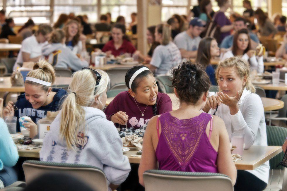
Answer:
<svg viewBox="0 0 287 191"><path fill-rule="evenodd" d="M106 52L106 51L109 51L109 50L112 51L112 55L119 56L119 55L122 55L124 53L131 53L131 54L133 54L134 51L136 51L136 48L134 47L133 44L131 44L131 42L129 42L128 40L124 39L122 46L120 46L119 49L116 49L115 45L114 45L114 40L110 40L102 48L103 52Z"/></svg>

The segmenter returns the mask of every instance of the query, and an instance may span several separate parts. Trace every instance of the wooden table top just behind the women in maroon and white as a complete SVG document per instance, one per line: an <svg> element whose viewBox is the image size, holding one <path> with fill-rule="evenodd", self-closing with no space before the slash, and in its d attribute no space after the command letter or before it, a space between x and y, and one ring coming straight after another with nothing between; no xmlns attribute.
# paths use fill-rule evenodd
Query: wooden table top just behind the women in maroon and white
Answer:
<svg viewBox="0 0 287 191"><path fill-rule="evenodd" d="M179 107L179 99L175 96L175 94L168 94L172 101L172 110L177 110ZM112 100L115 97L109 97L106 102L106 106L112 102ZM264 111L272 111L272 110L277 110L281 109L284 107L284 102L279 100L279 99L272 99L272 98L267 98L267 97L261 97L262 104L264 107Z"/></svg>

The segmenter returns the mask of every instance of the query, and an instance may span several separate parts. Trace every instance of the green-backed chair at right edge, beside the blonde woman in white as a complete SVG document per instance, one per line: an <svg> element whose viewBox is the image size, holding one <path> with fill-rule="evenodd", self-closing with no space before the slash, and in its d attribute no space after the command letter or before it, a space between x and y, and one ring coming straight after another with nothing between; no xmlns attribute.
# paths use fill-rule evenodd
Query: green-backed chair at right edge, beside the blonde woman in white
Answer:
<svg viewBox="0 0 287 191"><path fill-rule="evenodd" d="M266 125L266 133L268 146L282 146L287 137L287 129L284 127ZM287 190L287 171L285 170L285 167L281 165L276 167L276 165L282 161L283 156L284 153L281 152L269 160L269 180L264 191Z"/></svg>

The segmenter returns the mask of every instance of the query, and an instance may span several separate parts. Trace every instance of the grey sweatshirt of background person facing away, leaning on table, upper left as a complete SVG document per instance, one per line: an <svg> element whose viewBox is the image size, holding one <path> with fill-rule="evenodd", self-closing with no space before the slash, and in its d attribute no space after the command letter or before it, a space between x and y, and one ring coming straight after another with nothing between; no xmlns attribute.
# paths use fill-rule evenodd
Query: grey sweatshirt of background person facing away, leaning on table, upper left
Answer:
<svg viewBox="0 0 287 191"><path fill-rule="evenodd" d="M54 67L71 68L73 71L81 70L83 67L89 67L87 61L78 58L76 54L61 43L47 44L42 48L42 54L48 57L48 62Z"/></svg>

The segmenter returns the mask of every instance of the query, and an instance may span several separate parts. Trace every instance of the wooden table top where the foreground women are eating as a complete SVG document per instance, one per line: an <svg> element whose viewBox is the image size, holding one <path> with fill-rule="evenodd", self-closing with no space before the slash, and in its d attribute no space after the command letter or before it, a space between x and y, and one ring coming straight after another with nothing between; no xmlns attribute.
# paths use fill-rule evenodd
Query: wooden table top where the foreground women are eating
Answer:
<svg viewBox="0 0 287 191"><path fill-rule="evenodd" d="M18 150L18 154L22 157L40 158L40 150L41 148ZM129 158L130 163L140 163L140 157L131 156L136 154L136 152L138 150L124 152L124 155ZM254 170L281 152L282 147L253 145L249 149L244 150L242 160L235 162L235 166L237 170Z"/></svg>

